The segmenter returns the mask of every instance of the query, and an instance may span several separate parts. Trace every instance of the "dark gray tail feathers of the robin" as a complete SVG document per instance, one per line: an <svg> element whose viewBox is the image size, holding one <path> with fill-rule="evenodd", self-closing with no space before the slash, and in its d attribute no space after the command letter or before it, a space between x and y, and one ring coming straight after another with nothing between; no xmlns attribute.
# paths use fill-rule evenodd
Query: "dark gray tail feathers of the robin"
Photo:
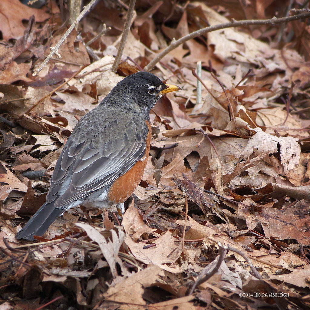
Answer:
<svg viewBox="0 0 310 310"><path fill-rule="evenodd" d="M42 236L64 211L65 209L57 208L53 203L44 203L27 224L17 232L15 237L17 239L35 240L33 236Z"/></svg>

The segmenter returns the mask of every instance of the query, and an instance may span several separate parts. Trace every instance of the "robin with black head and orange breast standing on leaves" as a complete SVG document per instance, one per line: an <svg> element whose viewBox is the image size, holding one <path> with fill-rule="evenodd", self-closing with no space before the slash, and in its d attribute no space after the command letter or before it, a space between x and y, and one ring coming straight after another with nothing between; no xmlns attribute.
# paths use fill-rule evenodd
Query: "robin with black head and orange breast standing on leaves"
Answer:
<svg viewBox="0 0 310 310"><path fill-rule="evenodd" d="M151 144L150 110L181 88L139 71L128 75L77 123L55 164L46 202L21 228L17 239L35 240L66 210L78 205L117 206L141 182Z"/></svg>

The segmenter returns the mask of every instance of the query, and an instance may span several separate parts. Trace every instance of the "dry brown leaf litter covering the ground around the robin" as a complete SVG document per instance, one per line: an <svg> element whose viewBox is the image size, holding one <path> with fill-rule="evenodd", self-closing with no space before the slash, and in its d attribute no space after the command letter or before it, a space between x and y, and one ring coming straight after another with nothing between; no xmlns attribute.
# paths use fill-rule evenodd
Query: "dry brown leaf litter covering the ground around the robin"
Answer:
<svg viewBox="0 0 310 310"><path fill-rule="evenodd" d="M15 239L45 201L72 128L123 76L207 25L286 14L284 3L256 0L225 7L140 1L114 73L127 9L99 2L60 47L62 59L33 77L65 31L61 10L53 1L41 9L0 4L0 308L310 309L303 20L218 30L166 55L152 72L182 90L151 111L148 164L122 225L113 213L80 206L51 225L48 239ZM111 29L86 47L103 23ZM197 61L206 86L201 103Z"/></svg>

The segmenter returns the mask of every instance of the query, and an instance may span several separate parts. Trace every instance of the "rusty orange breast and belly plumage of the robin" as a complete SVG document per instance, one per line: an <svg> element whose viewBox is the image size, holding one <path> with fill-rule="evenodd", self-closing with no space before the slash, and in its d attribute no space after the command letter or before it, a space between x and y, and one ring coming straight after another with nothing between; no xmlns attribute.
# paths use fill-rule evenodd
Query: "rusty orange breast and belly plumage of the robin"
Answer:
<svg viewBox="0 0 310 310"><path fill-rule="evenodd" d="M151 145L151 124L148 121L145 122L148 126L148 135L146 137L144 157L136 162L135 165L124 175L120 176L113 182L108 193L109 201L113 201L114 203L125 202L142 180Z"/></svg>

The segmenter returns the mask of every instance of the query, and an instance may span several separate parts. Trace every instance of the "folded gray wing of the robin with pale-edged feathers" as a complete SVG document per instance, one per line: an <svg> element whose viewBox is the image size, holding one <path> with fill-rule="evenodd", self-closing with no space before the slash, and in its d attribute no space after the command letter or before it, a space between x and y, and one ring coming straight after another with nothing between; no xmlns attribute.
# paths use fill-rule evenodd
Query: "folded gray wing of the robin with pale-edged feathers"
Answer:
<svg viewBox="0 0 310 310"><path fill-rule="evenodd" d="M114 119L100 132L83 121L84 128L78 123L80 126L65 144L51 177L47 203L54 201L56 207L69 207L74 201L108 189L145 154L148 126L144 120L123 120L120 124ZM100 127L99 123L96 125Z"/></svg>

